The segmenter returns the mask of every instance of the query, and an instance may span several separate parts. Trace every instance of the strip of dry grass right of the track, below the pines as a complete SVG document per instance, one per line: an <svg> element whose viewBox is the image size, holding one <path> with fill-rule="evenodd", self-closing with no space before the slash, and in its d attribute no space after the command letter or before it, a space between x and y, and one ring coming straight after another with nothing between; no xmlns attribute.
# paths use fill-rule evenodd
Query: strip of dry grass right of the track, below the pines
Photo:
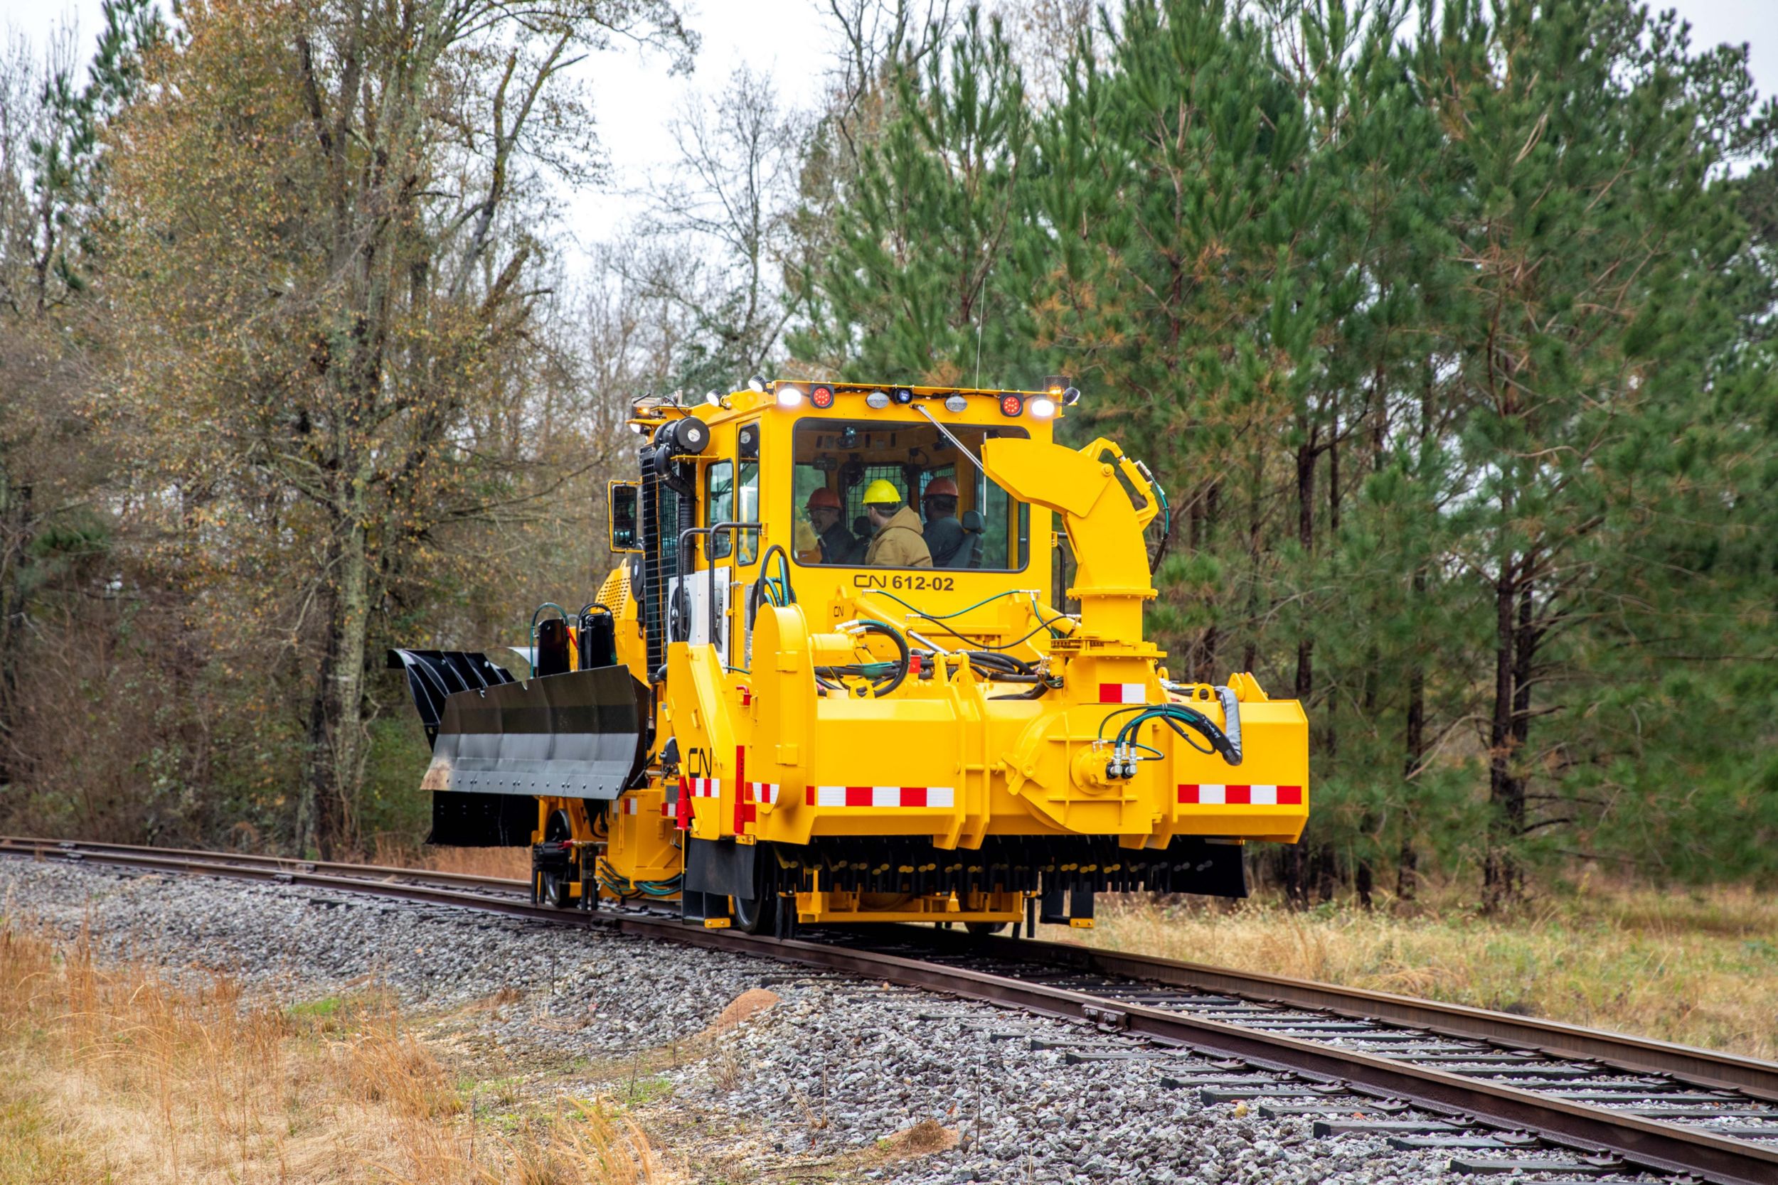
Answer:
<svg viewBox="0 0 1778 1185"><path fill-rule="evenodd" d="M1598 879L1485 917L1456 888L1415 908L1298 911L1109 901L1093 945L1508 1009L1778 1057L1778 899Z"/></svg>

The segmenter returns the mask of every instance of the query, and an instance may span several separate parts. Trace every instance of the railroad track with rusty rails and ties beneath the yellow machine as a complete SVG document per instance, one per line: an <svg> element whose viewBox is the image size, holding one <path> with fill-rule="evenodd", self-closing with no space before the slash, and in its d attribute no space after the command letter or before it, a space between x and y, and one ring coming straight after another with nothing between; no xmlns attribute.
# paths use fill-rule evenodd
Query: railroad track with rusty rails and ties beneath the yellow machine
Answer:
<svg viewBox="0 0 1778 1185"><path fill-rule="evenodd" d="M1314 1116L1319 1135L1449 1149L1456 1173L1536 1173L1547 1185L1639 1173L1778 1183L1778 1064L1751 1057L1033 940L912 927L749 938L663 910L537 906L525 881L485 876L11 837L0 837L0 855L601 926L1076 1018L1090 1027L1061 1043L1067 1061L1159 1059L1165 1071L1177 1059L1163 1082L1205 1103Z"/></svg>

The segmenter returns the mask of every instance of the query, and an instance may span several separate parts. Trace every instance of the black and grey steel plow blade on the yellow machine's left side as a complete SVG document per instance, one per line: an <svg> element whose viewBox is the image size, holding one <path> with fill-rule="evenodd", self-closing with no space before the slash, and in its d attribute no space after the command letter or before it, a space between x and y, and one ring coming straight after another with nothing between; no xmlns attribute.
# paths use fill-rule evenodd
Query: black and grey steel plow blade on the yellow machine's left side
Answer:
<svg viewBox="0 0 1778 1185"><path fill-rule="evenodd" d="M613 799L645 755L628 666L528 682L461 650L391 650L389 666L407 670L432 741L423 791Z"/></svg>

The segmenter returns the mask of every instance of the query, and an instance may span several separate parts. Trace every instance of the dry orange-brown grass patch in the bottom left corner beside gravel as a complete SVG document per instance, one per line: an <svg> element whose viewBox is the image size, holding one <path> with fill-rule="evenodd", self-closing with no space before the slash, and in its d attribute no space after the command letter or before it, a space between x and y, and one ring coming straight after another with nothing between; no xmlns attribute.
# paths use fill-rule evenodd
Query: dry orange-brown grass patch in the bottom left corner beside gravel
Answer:
<svg viewBox="0 0 1778 1185"><path fill-rule="evenodd" d="M281 1009L212 975L100 968L91 943L0 929L0 1185L265 1180L638 1185L605 1107L478 1116L389 1000Z"/></svg>

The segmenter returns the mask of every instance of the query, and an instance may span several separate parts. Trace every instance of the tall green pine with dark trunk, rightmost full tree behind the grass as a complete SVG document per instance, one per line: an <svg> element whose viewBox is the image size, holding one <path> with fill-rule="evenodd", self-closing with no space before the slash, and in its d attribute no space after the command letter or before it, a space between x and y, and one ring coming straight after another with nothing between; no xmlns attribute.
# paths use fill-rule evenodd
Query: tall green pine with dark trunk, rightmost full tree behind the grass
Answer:
<svg viewBox="0 0 1778 1185"><path fill-rule="evenodd" d="M1574 821L1542 775L1588 760L1588 629L1629 593L1646 512L1675 496L1646 449L1700 410L1732 329L1716 274L1739 249L1694 64L1629 4L1453 4L1415 75L1467 195L1478 318L1451 327L1474 474L1462 561L1492 592L1488 899L1520 890L1517 844ZM1702 590L1694 590L1702 592ZM1581 680L1586 686L1586 680ZM1552 714L1558 727L1538 727ZM1543 734L1549 734L1547 739Z"/></svg>

